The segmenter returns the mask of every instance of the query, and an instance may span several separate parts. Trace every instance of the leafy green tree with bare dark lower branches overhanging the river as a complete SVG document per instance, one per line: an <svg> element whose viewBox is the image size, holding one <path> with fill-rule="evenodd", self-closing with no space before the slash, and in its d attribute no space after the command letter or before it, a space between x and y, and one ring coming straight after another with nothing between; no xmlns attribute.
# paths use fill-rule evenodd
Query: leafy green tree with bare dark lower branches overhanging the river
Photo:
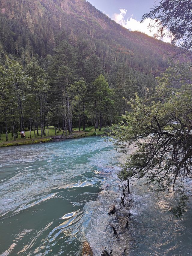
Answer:
<svg viewBox="0 0 192 256"><path fill-rule="evenodd" d="M192 196L188 182L192 178L192 90L189 65L175 65L157 78L158 86L149 97L137 94L131 99L131 113L114 126L110 135L117 148L128 157L119 177L145 178L155 192L179 191L176 208L180 216Z"/></svg>

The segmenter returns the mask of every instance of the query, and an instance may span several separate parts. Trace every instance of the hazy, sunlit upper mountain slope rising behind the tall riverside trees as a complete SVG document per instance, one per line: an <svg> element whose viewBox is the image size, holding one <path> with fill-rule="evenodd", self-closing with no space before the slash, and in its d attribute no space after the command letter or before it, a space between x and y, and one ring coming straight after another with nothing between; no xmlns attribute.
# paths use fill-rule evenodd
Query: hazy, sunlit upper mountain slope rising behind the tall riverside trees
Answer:
<svg viewBox="0 0 192 256"><path fill-rule="evenodd" d="M6 51L22 64L35 54L42 58L52 55L61 39L75 44L83 38L103 62L106 73L112 68L107 60L110 54L137 71L156 76L165 70L168 58L180 51L125 29L85 0L0 0L0 10L1 56Z"/></svg>

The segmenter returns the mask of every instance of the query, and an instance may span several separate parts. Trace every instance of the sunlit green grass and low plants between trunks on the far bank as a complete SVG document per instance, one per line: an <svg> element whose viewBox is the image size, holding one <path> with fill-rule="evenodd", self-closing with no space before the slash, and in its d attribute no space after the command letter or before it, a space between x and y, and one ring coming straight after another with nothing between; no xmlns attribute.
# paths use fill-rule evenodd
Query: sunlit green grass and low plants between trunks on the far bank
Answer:
<svg viewBox="0 0 192 256"><path fill-rule="evenodd" d="M67 135L62 135L62 130L57 131L55 135L55 128L49 128L49 135L41 137L40 135L34 136L34 131L31 131L31 138L30 138L30 131L25 131L26 138L21 139L18 138L16 140L12 139L12 135L8 134L9 140L6 141L6 135L1 134L1 140L0 140L0 147L9 147L9 146L22 146L22 145L30 145L30 144L39 144L39 143L45 143L45 142L54 142L54 141L63 141L68 139L77 139L77 138L85 138L90 136L101 136L107 133L107 130L105 128L102 128L101 131L99 129L95 128L86 128L85 131L79 131L78 128L73 129L73 133L69 134L67 132Z"/></svg>

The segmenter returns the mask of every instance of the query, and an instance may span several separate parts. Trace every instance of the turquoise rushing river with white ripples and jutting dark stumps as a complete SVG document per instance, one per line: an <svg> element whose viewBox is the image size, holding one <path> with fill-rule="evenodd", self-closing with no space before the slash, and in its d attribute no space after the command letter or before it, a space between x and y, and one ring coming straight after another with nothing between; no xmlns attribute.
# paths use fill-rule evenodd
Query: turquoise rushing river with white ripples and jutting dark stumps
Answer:
<svg viewBox="0 0 192 256"><path fill-rule="evenodd" d="M0 255L77 256L85 240L95 256L105 247L113 256L192 255L192 209L180 219L167 213L173 193L131 185L131 203L108 215L113 204L120 208L122 155L103 138L2 148L0 155Z"/></svg>

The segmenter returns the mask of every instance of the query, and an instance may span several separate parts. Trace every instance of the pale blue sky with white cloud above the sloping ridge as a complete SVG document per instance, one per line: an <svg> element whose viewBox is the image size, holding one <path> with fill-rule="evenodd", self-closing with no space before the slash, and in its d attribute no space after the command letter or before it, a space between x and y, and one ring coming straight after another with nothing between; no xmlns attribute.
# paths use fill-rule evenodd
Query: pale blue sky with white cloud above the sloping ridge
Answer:
<svg viewBox="0 0 192 256"><path fill-rule="evenodd" d="M140 23L143 14L153 8L155 0L88 0L88 2L131 31L138 30L150 36L155 34L155 30L150 32L148 28L149 24L153 23L152 20L146 19ZM164 37L163 41L170 43L170 38Z"/></svg>

